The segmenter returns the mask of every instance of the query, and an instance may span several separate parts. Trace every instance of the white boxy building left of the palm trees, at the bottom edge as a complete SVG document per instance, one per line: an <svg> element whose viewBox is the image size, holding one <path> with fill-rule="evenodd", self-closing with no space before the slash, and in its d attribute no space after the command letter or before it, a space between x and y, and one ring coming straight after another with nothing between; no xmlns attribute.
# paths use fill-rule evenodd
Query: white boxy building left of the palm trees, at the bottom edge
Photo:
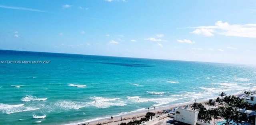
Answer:
<svg viewBox="0 0 256 125"><path fill-rule="evenodd" d="M199 113L198 111L193 111L193 110L183 109L183 108L176 108L174 120L187 123L190 125L196 125L198 113Z"/></svg>

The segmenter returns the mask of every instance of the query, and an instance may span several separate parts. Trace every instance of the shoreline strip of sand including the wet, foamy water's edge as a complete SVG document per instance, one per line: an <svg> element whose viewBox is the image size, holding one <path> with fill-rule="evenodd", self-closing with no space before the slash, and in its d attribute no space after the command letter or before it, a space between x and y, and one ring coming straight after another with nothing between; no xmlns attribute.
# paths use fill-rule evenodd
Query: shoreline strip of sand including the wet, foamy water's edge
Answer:
<svg viewBox="0 0 256 125"><path fill-rule="evenodd" d="M226 93L227 94L227 93ZM256 90L252 90L251 91L251 95L256 94ZM244 91L240 91L240 92L236 92L233 94L229 94L229 95L234 95L240 98L246 97L246 93L244 93ZM229 96L228 94L226 96ZM217 96L220 97L220 96ZM210 99L216 99L217 97L213 97ZM198 100L196 101L196 103L202 103L204 105L204 107L206 107L208 109L208 105L205 105L205 103L208 101L208 99L206 99L205 101L203 100ZM96 125L96 124L101 124L101 125L118 125L122 122L124 123L128 123L130 121L133 120L140 120L142 117L144 117L146 115L147 112L154 112L156 113L156 115L153 117L156 118L157 116L161 116L161 115L165 115L166 113L162 113L163 110L166 109L170 109L172 110L175 107L186 107L186 105L188 105L188 109L191 109L191 105L194 102L185 102L185 103L178 103L178 104L173 104L173 105L164 105L164 106L160 106L160 107L154 107L152 106L152 108L150 109L143 109L143 110L135 110L135 111L130 111L128 113L123 113L120 114L118 113L117 115L113 115L113 119L111 119L111 116L106 117L106 118L102 118L102 119L90 119L88 121L85 122L80 122L80 123L70 123L70 124L65 124L65 125ZM158 112L160 112L161 114L158 114Z"/></svg>

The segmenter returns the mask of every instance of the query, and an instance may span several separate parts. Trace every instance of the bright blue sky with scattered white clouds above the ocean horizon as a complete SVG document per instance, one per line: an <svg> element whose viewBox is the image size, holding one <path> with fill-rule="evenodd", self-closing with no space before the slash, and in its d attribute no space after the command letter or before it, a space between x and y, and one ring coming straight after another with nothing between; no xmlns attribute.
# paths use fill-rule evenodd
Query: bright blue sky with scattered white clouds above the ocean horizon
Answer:
<svg viewBox="0 0 256 125"><path fill-rule="evenodd" d="M256 65L256 0L0 0L0 50Z"/></svg>

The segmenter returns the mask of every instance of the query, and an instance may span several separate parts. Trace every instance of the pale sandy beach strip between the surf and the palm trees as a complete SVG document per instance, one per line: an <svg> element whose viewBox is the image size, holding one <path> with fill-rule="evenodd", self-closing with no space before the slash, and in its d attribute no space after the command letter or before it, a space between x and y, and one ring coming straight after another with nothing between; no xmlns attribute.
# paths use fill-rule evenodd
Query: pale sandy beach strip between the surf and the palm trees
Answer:
<svg viewBox="0 0 256 125"><path fill-rule="evenodd" d="M251 94L252 95L256 94L256 91L251 91ZM246 94L244 92L240 92L240 93L237 93L235 96L245 97ZM208 100L206 100L206 101L196 101L196 103L202 103L204 105L204 107L206 107L206 109L209 109L209 106L205 104L207 101ZM182 104L177 104L177 105L170 105L170 106L164 106L164 107L155 107L155 108L153 107L153 108L145 109L145 110L142 110L142 111L134 111L132 113L126 113L126 114L123 114L123 115L119 115L119 116L114 117L113 119L111 119L109 117L108 119L101 119L101 120L92 121L92 122L89 122L89 123L82 123L82 124L79 124L79 125L96 125L96 124L119 125L122 122L123 123L128 123L130 121L134 121L135 119L140 120L142 117L144 117L146 115L147 112L156 113L156 115L152 118L152 119L154 119L158 116L162 116L162 115L167 114L167 113L163 113L163 110L166 110L166 109L173 110L173 108L176 108L176 107L183 107L184 108L187 105L188 105L188 109L192 109L191 108L192 104L193 104L193 102L182 103ZM215 105L215 107L217 107L217 106L218 105ZM212 107L214 107L214 106L212 106Z"/></svg>

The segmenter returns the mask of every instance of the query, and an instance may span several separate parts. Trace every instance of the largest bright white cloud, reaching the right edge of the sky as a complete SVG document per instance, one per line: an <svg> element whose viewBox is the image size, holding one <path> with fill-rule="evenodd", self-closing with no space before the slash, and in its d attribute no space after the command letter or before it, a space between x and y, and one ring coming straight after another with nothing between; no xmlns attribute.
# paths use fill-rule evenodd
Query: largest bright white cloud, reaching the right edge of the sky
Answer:
<svg viewBox="0 0 256 125"><path fill-rule="evenodd" d="M228 22L217 21L214 26L198 26L190 28L197 28L192 33L198 35L210 36L214 35L214 31L216 34L224 36L256 38L256 24L230 25ZM204 31L202 29L204 29Z"/></svg>

